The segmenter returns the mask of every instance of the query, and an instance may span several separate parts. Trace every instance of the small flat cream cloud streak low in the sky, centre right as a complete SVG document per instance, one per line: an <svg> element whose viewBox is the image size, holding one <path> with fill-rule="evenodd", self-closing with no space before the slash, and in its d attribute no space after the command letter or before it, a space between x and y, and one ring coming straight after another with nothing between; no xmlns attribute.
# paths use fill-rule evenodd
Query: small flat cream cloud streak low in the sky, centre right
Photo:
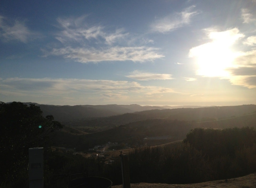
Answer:
<svg viewBox="0 0 256 188"><path fill-rule="evenodd" d="M147 73L138 70L134 70L127 75L128 78L133 78L136 80L147 81L147 80L170 80L173 79L171 74L155 74L155 73Z"/></svg>

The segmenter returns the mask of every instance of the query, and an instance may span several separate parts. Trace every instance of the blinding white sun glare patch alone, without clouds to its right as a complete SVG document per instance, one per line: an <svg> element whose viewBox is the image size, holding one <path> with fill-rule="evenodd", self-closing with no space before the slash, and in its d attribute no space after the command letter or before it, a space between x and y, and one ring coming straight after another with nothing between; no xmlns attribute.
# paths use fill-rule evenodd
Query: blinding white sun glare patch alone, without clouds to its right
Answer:
<svg viewBox="0 0 256 188"><path fill-rule="evenodd" d="M243 35L238 29L231 29L210 32L209 37L213 41L190 49L189 57L196 57L198 75L227 78L230 76L227 68L233 66L237 56L231 47Z"/></svg>

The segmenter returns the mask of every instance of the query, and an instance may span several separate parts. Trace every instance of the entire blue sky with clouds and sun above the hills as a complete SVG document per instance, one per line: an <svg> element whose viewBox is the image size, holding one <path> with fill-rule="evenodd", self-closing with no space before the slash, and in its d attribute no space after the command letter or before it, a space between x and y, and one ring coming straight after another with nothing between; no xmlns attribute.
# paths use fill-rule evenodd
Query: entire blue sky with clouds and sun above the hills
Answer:
<svg viewBox="0 0 256 188"><path fill-rule="evenodd" d="M0 0L0 101L256 104L256 0Z"/></svg>

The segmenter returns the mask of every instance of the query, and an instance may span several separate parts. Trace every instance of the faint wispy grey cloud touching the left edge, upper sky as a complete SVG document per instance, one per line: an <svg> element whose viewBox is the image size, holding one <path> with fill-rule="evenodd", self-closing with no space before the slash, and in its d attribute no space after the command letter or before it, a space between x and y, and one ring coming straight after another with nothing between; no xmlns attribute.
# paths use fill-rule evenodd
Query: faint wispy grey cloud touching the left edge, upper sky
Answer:
<svg viewBox="0 0 256 188"><path fill-rule="evenodd" d="M30 31L25 26L25 21L10 21L4 16L0 16L0 39L3 41L20 41L27 43L36 37L36 33Z"/></svg>

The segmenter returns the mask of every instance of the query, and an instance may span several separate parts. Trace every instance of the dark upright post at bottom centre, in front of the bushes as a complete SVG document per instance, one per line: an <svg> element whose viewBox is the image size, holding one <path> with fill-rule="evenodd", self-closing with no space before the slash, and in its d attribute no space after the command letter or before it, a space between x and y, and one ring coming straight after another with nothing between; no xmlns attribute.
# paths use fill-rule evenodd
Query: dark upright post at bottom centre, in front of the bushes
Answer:
<svg viewBox="0 0 256 188"><path fill-rule="evenodd" d="M129 162L128 162L128 155L119 155L121 157L121 164L122 164L122 180L123 180L123 188L130 188L130 172L129 172Z"/></svg>

